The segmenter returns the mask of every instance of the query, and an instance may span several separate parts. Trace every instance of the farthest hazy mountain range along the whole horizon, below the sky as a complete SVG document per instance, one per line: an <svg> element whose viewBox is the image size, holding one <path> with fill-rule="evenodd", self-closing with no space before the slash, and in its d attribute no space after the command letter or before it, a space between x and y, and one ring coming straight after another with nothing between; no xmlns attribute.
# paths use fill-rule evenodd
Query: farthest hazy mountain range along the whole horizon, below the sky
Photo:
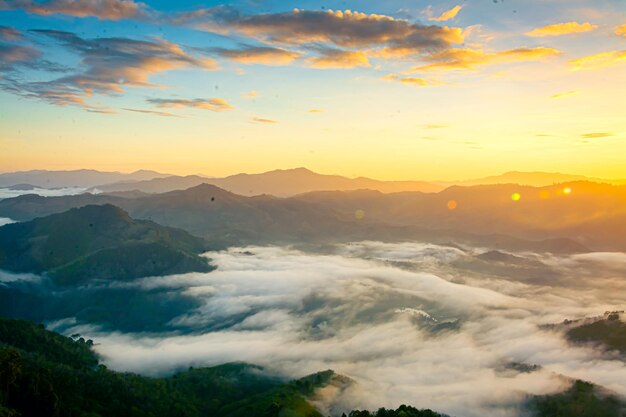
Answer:
<svg viewBox="0 0 626 417"><path fill-rule="evenodd" d="M274 170L260 174L236 174L214 178L203 175L178 176L140 170L129 174L75 171L25 171L0 174L0 188L28 190L32 188L90 188L91 192L164 193L182 190L200 184L216 185L243 196L270 194L289 197L313 191L376 190L383 193L404 191L439 192L453 185L519 184L543 187L572 181L592 181L624 185L626 180L607 180L581 175L549 172L507 172L502 175L463 181L380 181L371 178L348 178L324 175L306 168Z"/></svg>

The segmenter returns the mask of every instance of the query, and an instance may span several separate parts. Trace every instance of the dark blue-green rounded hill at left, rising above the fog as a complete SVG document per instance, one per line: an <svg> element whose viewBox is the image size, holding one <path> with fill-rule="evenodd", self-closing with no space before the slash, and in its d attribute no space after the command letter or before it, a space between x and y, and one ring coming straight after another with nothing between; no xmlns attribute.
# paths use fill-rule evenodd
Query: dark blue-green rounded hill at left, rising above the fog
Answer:
<svg viewBox="0 0 626 417"><path fill-rule="evenodd" d="M212 267L207 244L185 231L134 220L112 205L85 206L0 228L0 268L47 272L56 284L129 280Z"/></svg>

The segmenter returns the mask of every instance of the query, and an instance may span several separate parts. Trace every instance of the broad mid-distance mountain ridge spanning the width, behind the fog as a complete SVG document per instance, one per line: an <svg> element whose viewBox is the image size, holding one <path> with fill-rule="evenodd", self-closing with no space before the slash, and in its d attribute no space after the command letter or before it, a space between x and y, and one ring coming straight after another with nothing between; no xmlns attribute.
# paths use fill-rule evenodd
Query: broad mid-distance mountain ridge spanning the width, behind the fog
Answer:
<svg viewBox="0 0 626 417"><path fill-rule="evenodd" d="M202 184L187 190L124 198L83 194L25 195L0 201L0 216L30 220L86 204L115 204L139 219L177 227L215 245L382 241L454 241L548 252L621 250L624 189L572 183L560 188L507 185L451 187L440 193L328 191L290 198L245 197ZM607 188L608 187L608 188ZM511 193L520 192L520 201ZM545 192L554 197L534 198ZM448 208L456 201L455 210ZM362 217L362 218L360 218Z"/></svg>

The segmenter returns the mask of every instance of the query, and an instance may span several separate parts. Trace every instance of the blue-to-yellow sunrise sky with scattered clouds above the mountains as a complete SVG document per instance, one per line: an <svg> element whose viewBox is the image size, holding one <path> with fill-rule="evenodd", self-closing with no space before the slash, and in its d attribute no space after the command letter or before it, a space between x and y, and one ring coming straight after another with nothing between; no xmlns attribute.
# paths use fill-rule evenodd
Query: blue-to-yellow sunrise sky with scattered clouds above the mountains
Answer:
<svg viewBox="0 0 626 417"><path fill-rule="evenodd" d="M0 0L0 172L626 178L623 0Z"/></svg>

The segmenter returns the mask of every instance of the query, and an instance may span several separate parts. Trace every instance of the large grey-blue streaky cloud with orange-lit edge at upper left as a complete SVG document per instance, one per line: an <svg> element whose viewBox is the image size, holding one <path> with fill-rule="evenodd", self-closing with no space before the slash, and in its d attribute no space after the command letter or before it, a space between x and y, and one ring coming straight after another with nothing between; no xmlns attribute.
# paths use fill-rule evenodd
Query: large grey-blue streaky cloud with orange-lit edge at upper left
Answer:
<svg viewBox="0 0 626 417"><path fill-rule="evenodd" d="M52 38L78 54L80 65L73 73L50 81L4 80L3 88L56 105L76 105L94 110L86 103L86 99L94 93L115 95L122 93L126 86L157 87L150 83L150 77L169 70L217 68L213 60L189 55L180 45L163 39L83 39L73 33L56 30L34 30L32 33ZM2 53L5 62L35 60L31 65L37 65L35 58L38 53L35 50L12 47L0 51ZM53 69L47 65L39 66L42 69Z"/></svg>

